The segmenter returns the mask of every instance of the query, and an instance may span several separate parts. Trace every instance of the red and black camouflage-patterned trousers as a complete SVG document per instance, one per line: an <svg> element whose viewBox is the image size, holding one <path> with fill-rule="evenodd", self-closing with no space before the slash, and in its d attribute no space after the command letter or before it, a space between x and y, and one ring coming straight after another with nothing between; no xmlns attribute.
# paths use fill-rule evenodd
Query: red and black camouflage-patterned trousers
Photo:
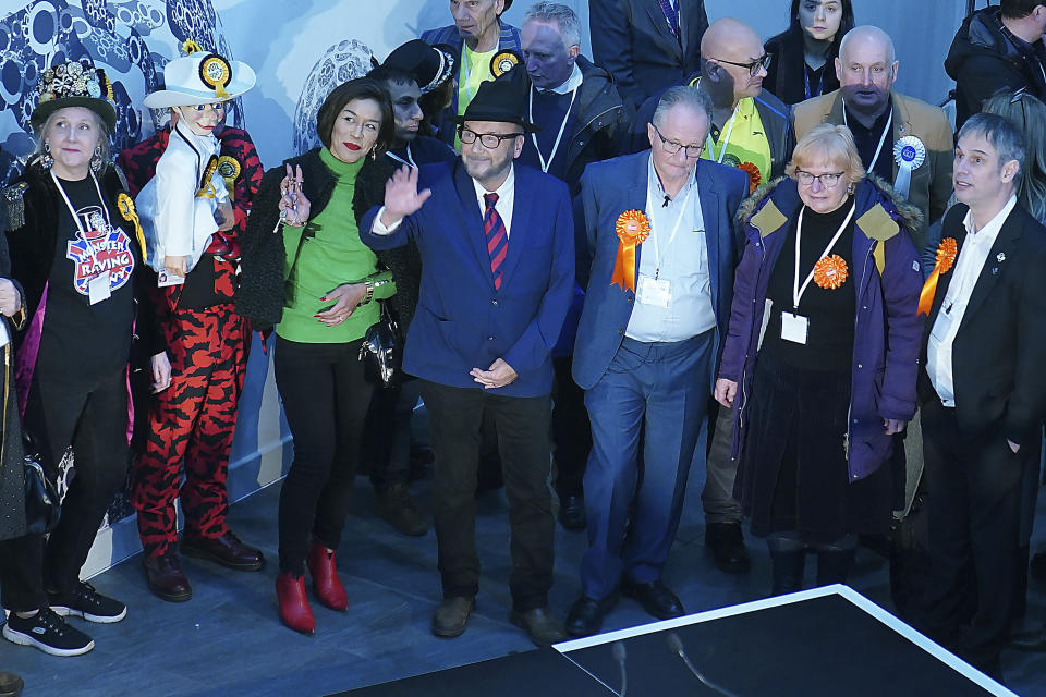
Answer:
<svg viewBox="0 0 1046 697"><path fill-rule="evenodd" d="M175 309L163 329L171 387L156 395L149 411L132 492L149 557L167 553L178 541L175 498L182 501L187 535L215 538L229 530L226 478L250 339L246 321L231 304Z"/></svg>

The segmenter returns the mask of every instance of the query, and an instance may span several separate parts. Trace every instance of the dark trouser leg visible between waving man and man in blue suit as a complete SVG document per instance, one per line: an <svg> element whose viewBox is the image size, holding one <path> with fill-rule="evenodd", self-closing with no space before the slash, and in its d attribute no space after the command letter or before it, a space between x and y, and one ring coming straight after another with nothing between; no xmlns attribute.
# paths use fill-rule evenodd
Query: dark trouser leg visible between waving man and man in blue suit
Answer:
<svg viewBox="0 0 1046 697"><path fill-rule="evenodd" d="M592 450L592 427L585 409L585 391L570 374L572 356L552 359L552 456L556 461L556 493L560 499L580 497L585 463Z"/></svg>

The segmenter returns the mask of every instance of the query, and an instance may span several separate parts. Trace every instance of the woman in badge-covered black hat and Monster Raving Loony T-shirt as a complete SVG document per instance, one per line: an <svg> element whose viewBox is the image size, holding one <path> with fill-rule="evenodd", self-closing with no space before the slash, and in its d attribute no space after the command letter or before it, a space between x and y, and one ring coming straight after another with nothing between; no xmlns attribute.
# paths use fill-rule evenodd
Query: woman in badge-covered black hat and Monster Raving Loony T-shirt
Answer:
<svg viewBox="0 0 1046 697"><path fill-rule="evenodd" d="M94 641L64 615L111 623L127 613L80 580L126 475L127 366L151 363L156 391L170 384L171 368L141 299L148 276L137 213L109 164L112 85L86 61L69 62L46 70L37 91L37 152L3 192L11 276L29 318L17 341L19 406L49 475L71 449L75 476L46 541L28 534L3 543L3 636L77 656Z"/></svg>

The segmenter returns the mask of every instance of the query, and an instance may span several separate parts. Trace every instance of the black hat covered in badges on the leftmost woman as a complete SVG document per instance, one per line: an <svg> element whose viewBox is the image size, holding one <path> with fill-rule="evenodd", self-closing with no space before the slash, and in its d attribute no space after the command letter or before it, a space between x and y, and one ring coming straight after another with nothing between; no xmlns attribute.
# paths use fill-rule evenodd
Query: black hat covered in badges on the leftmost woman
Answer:
<svg viewBox="0 0 1046 697"><path fill-rule="evenodd" d="M48 68L36 83L36 109L29 122L39 129L47 118L66 107L85 107L97 113L109 131L117 127L117 103L106 71L87 59Z"/></svg>

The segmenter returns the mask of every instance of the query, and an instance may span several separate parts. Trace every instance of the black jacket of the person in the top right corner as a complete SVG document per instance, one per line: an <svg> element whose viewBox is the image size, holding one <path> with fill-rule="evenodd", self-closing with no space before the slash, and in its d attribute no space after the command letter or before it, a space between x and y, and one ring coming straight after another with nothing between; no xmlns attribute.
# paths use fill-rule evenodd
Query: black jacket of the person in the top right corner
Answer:
<svg viewBox="0 0 1046 697"><path fill-rule="evenodd" d="M1042 41L1036 48L1042 54ZM1046 77L1037 63L1006 37L999 8L985 8L966 17L945 59L945 71L956 81L956 131L998 91L1026 87L1046 101Z"/></svg>

